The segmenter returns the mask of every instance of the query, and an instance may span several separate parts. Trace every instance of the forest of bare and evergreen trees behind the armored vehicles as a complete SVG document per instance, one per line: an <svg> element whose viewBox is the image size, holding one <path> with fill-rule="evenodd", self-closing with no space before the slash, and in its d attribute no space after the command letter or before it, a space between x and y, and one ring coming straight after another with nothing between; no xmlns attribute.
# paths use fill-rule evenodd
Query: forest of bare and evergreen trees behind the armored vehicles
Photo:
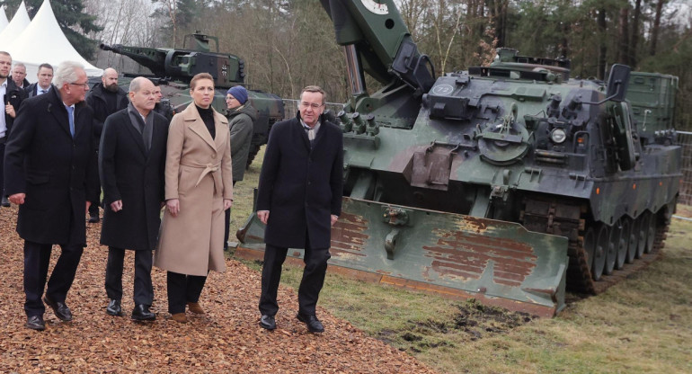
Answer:
<svg viewBox="0 0 692 374"><path fill-rule="evenodd" d="M9 19L21 0L1 0ZM43 0L25 0L32 17ZM438 75L489 63L498 47L572 59L572 77L604 79L614 63L679 76L678 129L692 130L692 4L688 0L395 0ZM97 67L148 73L98 43L182 48L216 35L244 59L250 88L295 99L321 85L349 97L342 47L318 0L52 0L67 38ZM141 70L138 70L141 69ZM378 88L368 80L368 91Z"/></svg>

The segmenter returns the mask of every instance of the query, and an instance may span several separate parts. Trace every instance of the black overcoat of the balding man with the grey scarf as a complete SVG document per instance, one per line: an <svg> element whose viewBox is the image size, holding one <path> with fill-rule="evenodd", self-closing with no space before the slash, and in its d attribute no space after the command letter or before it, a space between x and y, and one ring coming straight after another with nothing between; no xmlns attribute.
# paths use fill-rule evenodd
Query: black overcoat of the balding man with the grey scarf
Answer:
<svg viewBox="0 0 692 374"><path fill-rule="evenodd" d="M155 248L164 201L165 149L168 120L152 111L151 148L129 119L128 109L106 119L99 147L99 174L103 188L101 244L133 250ZM114 212L111 202L122 200Z"/></svg>

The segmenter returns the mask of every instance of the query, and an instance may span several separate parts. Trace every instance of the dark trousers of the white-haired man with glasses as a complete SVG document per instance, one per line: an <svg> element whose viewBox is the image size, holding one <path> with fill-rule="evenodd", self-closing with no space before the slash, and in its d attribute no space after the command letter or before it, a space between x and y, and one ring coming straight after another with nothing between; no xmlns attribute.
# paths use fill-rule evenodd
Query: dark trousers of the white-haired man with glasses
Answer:
<svg viewBox="0 0 692 374"><path fill-rule="evenodd" d="M43 245L24 241L24 311L26 316L42 316L46 307L41 301L46 287L50 253L53 245ZM53 268L48 281L46 296L53 301L65 302L67 291L72 287L79 260L82 258L82 245L60 245L58 263Z"/></svg>

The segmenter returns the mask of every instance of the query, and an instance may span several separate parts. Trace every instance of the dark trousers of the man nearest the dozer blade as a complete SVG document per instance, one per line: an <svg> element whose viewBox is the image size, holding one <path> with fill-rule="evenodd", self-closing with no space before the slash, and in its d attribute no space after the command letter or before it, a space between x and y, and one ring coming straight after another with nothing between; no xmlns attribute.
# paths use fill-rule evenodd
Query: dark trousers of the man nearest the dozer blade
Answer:
<svg viewBox="0 0 692 374"><path fill-rule="evenodd" d="M276 301L281 280L281 265L286 260L288 248L266 245L264 248L264 266L262 266L262 295L260 296L260 313L274 316L279 311ZM303 262L303 279L298 288L298 313L306 316L315 315L317 298L324 285L327 272L327 260L331 255L329 248L311 248L306 236L306 250Z"/></svg>

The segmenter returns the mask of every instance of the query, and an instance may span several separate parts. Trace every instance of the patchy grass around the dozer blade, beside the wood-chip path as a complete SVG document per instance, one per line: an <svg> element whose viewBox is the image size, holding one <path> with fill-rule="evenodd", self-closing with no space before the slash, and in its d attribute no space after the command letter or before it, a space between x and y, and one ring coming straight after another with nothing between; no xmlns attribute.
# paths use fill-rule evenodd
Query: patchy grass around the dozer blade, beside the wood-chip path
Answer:
<svg viewBox="0 0 692 374"><path fill-rule="evenodd" d="M252 211L261 153L236 184L232 237ZM679 212L684 209L679 209ZM661 260L557 317L378 286L327 273L320 305L448 373L692 372L692 222L674 219ZM258 263L245 262L259 271ZM302 269L285 266L297 289Z"/></svg>

